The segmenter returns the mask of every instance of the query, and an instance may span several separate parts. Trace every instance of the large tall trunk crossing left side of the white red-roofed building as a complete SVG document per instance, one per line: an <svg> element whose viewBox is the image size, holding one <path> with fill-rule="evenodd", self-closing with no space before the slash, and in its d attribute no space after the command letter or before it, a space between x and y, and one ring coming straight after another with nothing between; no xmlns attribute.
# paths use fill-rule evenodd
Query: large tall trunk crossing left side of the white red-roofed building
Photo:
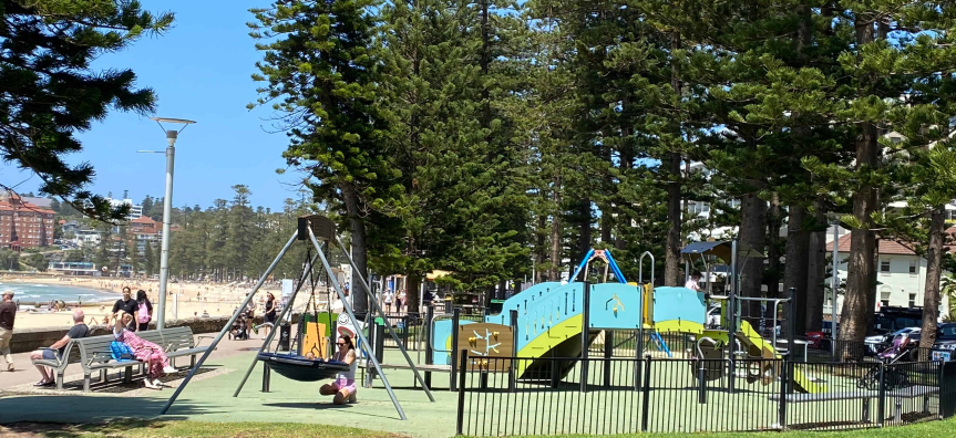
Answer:
<svg viewBox="0 0 956 438"><path fill-rule="evenodd" d="M872 14L857 14L855 23L857 48L875 40ZM857 54L862 60L862 54ZM860 124L856 137L856 173L875 169L880 154L877 129L872 123ZM870 306L870 295L874 290L873 275L875 271L876 239L871 231L871 215L875 211L876 190L868 182L863 182L853 194L853 216L861 227L850 231L850 263L847 268L846 292L843 298L843 311L840 313L840 330L837 338L852 343L863 342L867 331L867 314L873 313ZM840 352L846 357L851 352Z"/></svg>

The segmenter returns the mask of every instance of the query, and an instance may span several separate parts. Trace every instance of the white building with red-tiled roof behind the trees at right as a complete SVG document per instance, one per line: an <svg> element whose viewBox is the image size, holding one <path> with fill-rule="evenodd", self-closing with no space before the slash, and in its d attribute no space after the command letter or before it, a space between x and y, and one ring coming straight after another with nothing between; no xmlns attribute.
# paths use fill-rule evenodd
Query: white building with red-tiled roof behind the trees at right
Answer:
<svg viewBox="0 0 956 438"><path fill-rule="evenodd" d="M956 228L947 233L953 234ZM876 300L877 309L885 305L903 307L922 307L923 291L926 288L926 259L917 255L909 243L878 239L878 260L876 264ZM950 247L950 251L956 247ZM846 282L847 260L850 259L850 234L840 238L837 250L836 275L840 284ZM833 243L826 246L827 253L833 251ZM945 273L944 273L945 274ZM830 278L826 284L830 284ZM827 292L829 295L829 292ZM824 314L830 315L832 298L826 296ZM939 304L940 316L948 312L949 300L943 296ZM842 311L843 295L837 299L837 313Z"/></svg>

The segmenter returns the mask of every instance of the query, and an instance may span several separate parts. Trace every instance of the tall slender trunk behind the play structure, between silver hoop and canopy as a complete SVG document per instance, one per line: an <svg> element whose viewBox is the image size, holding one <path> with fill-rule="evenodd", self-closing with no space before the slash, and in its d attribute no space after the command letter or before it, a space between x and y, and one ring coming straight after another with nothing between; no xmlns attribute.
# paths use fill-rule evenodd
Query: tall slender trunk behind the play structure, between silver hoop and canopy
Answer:
<svg viewBox="0 0 956 438"><path fill-rule="evenodd" d="M680 33L670 33L670 50L680 49ZM680 95L680 64L675 56L670 62L670 85ZM677 127L680 132L680 126ZM667 242L665 248L664 285L678 286L680 282L680 154L669 153L667 159Z"/></svg>

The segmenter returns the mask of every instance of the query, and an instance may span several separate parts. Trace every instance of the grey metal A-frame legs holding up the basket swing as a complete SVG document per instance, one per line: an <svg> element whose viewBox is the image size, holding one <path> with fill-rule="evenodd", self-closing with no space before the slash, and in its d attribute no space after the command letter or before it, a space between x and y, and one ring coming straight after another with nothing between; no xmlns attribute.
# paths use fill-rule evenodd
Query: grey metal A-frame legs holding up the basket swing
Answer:
<svg viewBox="0 0 956 438"><path fill-rule="evenodd" d="M316 232L316 231L318 231L318 232ZM238 320L239 312L244 311L246 309L246 306L249 305L249 302L251 302L253 298L255 298L256 292L259 291L259 289L266 282L266 279L269 278L269 275L273 273L273 271L276 269L276 267L279 264L279 262L282 260L282 258L286 255L286 253L289 251L289 248L291 248L292 243L296 242L296 240L304 240L304 241L308 240L312 244L312 247L316 249L316 255L309 262L309 265L308 265L309 270L308 271L304 270L302 275L299 279L300 280L299 285L296 288L295 292L292 292L292 295L289 298L288 304L282 309L282 313L279 315L279 317L276 321L284 321L284 319L287 316L287 314L290 314L291 309L292 309L292 303L295 303L295 301L296 301L296 295L299 293L299 290L301 290L302 285L305 284L305 277L307 273L311 272L315 260L316 260L316 258L318 258L319 260L321 260L322 268L325 269L326 273L328 274L329 283L331 283L332 288L336 290L336 293L339 296L339 300L341 300L342 306L345 307L346 313L349 315L349 320L352 322L352 325L356 327L361 326L359 324L358 317L356 317L354 311L352 310L352 305L349 303L345 292L342 291L341 284L339 284L338 279L336 278L335 273L332 272L332 267L329 264L329 261L322 251L322 246L319 244L319 238L316 237L317 233L320 236L321 240L326 242L327 246L330 244L332 241L335 241L338 244L339 249L341 250L342 254L349 261L349 264L352 268L352 278L359 280L359 285L361 286L362 291L364 291L364 293L369 300L369 307L370 309L369 309L369 314L367 315L367 320L368 321L374 321L373 316L379 316L383 321L388 321L388 319L386 319L384 312L382 311L382 307L376 301L374 295L372 294L372 290L369 286L368 282L359 273L359 269L356 265L356 262L352 260L351 255L349 254L349 251L346 250L346 247L342 244L341 240L339 240L338 236L336 234L335 223L331 220L329 220L328 218L326 218L323 216L319 216L319 215L300 217L300 218L298 218L298 229L296 230L296 232L292 233L292 236L289 238L289 241L286 242L286 246L282 247L281 251L279 251L279 254L276 257L276 259L273 261L273 263L269 264L269 268L266 270L265 273L263 273L263 277L256 283L256 285L253 288L253 290L246 295L246 299L243 301L243 304L239 305L238 310L233 314L233 316L229 319L229 321L226 323L226 325L223 326L223 330L219 331L219 333L216 335L216 338L213 340L213 343L208 346L206 352L203 353L203 355L199 357L198 361L196 361L196 365L193 366L192 369L189 369L189 374L186 375L186 378L183 380L182 384L179 384L179 386L176 388L176 390L173 393L173 395L169 397L169 399L163 406L163 409L160 411L161 415L165 415L169 410L169 407L173 406L173 404L176 401L176 398L178 398L178 396L183 392L183 389L186 388L186 386L189 384L189 380L193 379L193 376L196 374L196 372L199 369L199 367L202 367L203 364L206 362L206 359L209 358L209 355L213 353L213 351L216 350L216 346L219 344L219 342L223 340L223 337L226 335L226 333L228 333L229 327L232 327L233 324L236 322L236 320ZM331 305L331 303L329 303L329 305ZM400 342L398 334L391 327L391 324L386 323L384 327L386 327L386 331L392 336L392 340L395 341L395 344L399 346L399 350L402 352L402 356L404 356L405 362L409 364L409 367L411 368L412 373L414 374L415 379L419 382L419 384L422 385L422 389L428 395L429 400L434 403L435 398L432 395L431 389L429 389L428 385L425 385L424 378L422 377L421 373L419 372L419 369L415 366L414 362L412 361L411 356L409 356L409 353L408 353L408 351L405 351L404 345L402 345L402 343ZM259 348L258 353L261 353L263 351L268 348L273 338L276 335L276 332L277 332L276 330L269 331L269 335L263 342L263 346ZM366 337L366 335L362 333L361 330L357 331L357 336L359 337L359 342L361 343L361 345L364 345L366 348L369 350L369 353L371 353L371 354L369 354L368 362L374 366L376 372L378 373L378 375L380 376L380 378L382 380L382 385L386 387L386 390L389 393L389 397L392 399L392 405L394 405L395 411L398 411L399 417L402 420L407 420L408 417L405 417L405 413L402 409L402 406L399 403L398 398L395 397L395 394L392 390L392 386L389 383L388 377L386 377L386 374L382 372L381 364L379 364L379 361L376 358L374 352L372 351L372 348L374 346L369 343L369 340ZM239 395L239 392L241 392L243 386L245 386L246 380L249 378L249 375L253 373L253 369L256 367L256 364L259 362L258 361L258 353L256 354L256 356L253 357L253 363L249 365L249 368L246 371L246 375L243 377L243 382L240 382L238 388L236 388L236 393L233 395L234 397Z"/></svg>

